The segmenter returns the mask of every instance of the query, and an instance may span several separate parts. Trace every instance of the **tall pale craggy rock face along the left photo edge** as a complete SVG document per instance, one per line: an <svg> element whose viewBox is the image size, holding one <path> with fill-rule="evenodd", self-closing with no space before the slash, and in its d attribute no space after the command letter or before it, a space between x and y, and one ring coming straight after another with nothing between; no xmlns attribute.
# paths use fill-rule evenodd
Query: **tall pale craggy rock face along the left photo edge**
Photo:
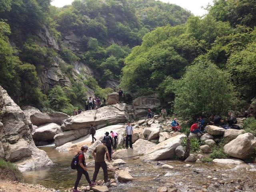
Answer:
<svg viewBox="0 0 256 192"><path fill-rule="evenodd" d="M0 158L15 162L22 172L53 164L36 148L31 130L24 112L0 86Z"/></svg>

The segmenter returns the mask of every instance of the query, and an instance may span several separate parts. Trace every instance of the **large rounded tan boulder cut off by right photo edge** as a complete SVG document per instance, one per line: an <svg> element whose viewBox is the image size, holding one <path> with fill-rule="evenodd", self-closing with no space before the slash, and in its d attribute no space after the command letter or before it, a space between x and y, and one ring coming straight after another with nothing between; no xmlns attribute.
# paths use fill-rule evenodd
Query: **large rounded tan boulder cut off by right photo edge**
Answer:
<svg viewBox="0 0 256 192"><path fill-rule="evenodd" d="M224 152L232 157L245 160L255 152L256 137L251 133L238 135L224 146Z"/></svg>

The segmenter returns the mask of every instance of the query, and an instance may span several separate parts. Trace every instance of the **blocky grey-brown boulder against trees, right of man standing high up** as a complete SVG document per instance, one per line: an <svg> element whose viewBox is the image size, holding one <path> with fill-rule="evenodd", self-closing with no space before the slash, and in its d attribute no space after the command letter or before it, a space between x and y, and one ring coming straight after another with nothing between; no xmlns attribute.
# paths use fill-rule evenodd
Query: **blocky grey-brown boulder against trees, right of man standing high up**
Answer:
<svg viewBox="0 0 256 192"><path fill-rule="evenodd" d="M135 110L137 109L155 109L160 106L160 100L153 97L138 97L132 101Z"/></svg>

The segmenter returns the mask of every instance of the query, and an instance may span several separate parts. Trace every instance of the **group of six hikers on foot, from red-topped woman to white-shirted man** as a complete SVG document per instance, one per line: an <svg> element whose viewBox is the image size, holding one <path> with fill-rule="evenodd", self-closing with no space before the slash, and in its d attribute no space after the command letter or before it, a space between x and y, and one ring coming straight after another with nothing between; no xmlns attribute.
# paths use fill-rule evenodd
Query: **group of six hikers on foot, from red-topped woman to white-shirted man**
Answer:
<svg viewBox="0 0 256 192"><path fill-rule="evenodd" d="M130 148L133 149L132 147L133 127L130 124L130 122L127 122L125 133L126 133L126 148L128 149L128 144L129 144ZM96 134L96 128L91 124L90 135L92 135L92 143L96 141L96 138L94 137L95 134ZM105 154L108 162L110 162L112 160L112 147L115 149L117 146L117 142L118 142L117 132L110 131L110 135L109 135L109 132L106 132L105 136L102 139L102 144L97 146L93 150L92 156L94 157L94 160L95 160L95 166L94 166L94 174L92 176L92 180L90 180L89 174L87 172L88 170L86 168L86 162L84 157L84 153L88 151L88 146L81 147L80 152L78 152L78 154L73 158L71 162L71 168L74 168L77 170L77 177L76 177L76 182L75 182L73 192L78 192L77 187L83 174L86 177L86 180L89 183L89 186L90 187L95 186L96 178L98 176L98 172L100 168L102 168L103 170L105 185L108 186L109 184L108 182L110 180L108 179L108 167L105 162Z"/></svg>

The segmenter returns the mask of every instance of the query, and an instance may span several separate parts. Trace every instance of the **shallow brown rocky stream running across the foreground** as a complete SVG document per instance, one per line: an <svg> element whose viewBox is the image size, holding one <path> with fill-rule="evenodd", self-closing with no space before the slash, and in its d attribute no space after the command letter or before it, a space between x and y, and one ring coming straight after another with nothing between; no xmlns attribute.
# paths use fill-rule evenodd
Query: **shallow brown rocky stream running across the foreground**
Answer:
<svg viewBox="0 0 256 192"><path fill-rule="evenodd" d="M73 187L76 180L76 170L70 169L70 161L74 153L58 152L53 147L41 149L46 151L55 165L24 173L25 181L55 189ZM86 160L87 163L89 161ZM191 167L184 167L186 163L180 161L148 162L140 159L126 159L125 161L127 162L126 167L131 170L130 174L134 177L134 181L128 184L118 184L118 187L110 188L111 192L155 192L160 186L178 188L182 192L197 190L198 192L200 190L226 192L232 189L246 192L256 191L256 164L190 163ZM163 169L162 164L169 164L174 169ZM92 178L94 168L89 168L88 172ZM164 176L167 172L168 176ZM217 178L217 180L211 180L207 178L208 176ZM114 175L110 173L109 177L114 178ZM103 179L102 170L100 170L97 180L100 179ZM81 184L88 185L84 176L80 181L80 186Z"/></svg>

